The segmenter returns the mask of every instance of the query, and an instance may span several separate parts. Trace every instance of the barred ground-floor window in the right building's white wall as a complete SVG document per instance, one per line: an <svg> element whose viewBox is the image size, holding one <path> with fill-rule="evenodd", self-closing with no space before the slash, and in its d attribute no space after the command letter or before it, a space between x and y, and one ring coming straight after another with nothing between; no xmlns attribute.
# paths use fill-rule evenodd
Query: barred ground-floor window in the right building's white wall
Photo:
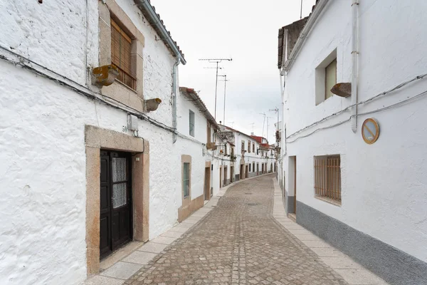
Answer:
<svg viewBox="0 0 427 285"><path fill-rule="evenodd" d="M315 157L315 194L341 202L341 158Z"/></svg>

